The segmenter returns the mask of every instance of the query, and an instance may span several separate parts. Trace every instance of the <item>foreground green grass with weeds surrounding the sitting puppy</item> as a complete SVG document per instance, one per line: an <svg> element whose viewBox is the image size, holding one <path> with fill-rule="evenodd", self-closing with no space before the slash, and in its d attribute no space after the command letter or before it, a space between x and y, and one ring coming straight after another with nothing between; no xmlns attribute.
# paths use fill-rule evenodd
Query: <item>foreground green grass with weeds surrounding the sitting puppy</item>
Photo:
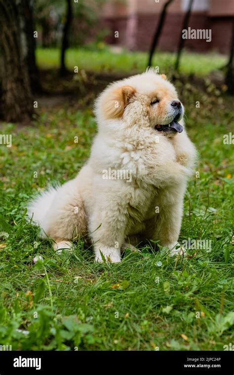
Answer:
<svg viewBox="0 0 234 375"><path fill-rule="evenodd" d="M26 202L48 183L75 177L96 132L92 112L41 110L31 127L2 127L12 134L12 147L0 146L1 344L25 350L223 350L234 342L234 153L233 145L223 144L231 131L230 98L209 82L205 92L190 83L177 87L200 154L180 240L212 241L211 252L191 250L190 258L145 247L126 251L119 264L97 264L82 240L73 255L56 255L27 222ZM35 264L37 255L43 260Z"/></svg>

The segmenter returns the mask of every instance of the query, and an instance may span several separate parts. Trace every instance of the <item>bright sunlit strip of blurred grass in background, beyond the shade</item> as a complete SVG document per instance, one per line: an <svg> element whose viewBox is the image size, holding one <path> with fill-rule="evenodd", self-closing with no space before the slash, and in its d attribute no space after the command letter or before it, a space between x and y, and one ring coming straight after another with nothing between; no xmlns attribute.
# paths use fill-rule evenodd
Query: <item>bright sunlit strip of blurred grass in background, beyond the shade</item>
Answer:
<svg viewBox="0 0 234 375"><path fill-rule="evenodd" d="M59 67L60 50L58 48L38 48L37 62L42 69ZM175 54L171 52L156 52L153 66L158 66L160 73L171 71ZM119 73L136 73L146 69L148 54L146 52L122 51L113 53L109 49L88 50L82 48L71 48L66 53L66 65L74 71L79 70L94 72L118 71ZM195 73L196 75L207 75L210 71L219 69L227 62L227 57L217 53L191 53L183 52L180 70L183 74Z"/></svg>

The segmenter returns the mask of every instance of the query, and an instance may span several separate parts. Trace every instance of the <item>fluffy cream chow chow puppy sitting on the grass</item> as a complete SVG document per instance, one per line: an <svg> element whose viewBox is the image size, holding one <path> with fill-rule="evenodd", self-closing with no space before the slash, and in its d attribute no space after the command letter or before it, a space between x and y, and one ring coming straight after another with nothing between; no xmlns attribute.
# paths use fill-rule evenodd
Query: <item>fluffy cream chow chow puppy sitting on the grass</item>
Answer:
<svg viewBox="0 0 234 375"><path fill-rule="evenodd" d="M97 98L98 134L78 176L49 188L28 214L54 249L87 234L96 261L120 262L120 250L158 240L178 244L186 183L196 151L174 86L154 69L110 84Z"/></svg>

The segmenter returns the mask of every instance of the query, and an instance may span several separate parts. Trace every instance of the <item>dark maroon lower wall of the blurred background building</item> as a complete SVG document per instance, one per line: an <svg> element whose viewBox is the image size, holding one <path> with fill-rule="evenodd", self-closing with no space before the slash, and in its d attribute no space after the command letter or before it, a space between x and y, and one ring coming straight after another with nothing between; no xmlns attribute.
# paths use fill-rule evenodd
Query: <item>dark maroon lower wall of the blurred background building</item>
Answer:
<svg viewBox="0 0 234 375"><path fill-rule="evenodd" d="M168 13L166 15L163 30L158 42L158 48L164 51L175 51L180 39L183 13ZM110 30L106 38L107 43L129 47L134 50L149 50L150 44L158 23L157 14L144 14L137 16L137 27L135 42L128 45L127 25L128 17L116 17L103 20L103 27ZM205 39L186 39L185 48L191 51L211 51L228 53L232 37L232 17L208 17L204 13L191 14L188 27L192 29L211 29L212 37L210 42ZM118 31L118 38L115 38L115 31Z"/></svg>

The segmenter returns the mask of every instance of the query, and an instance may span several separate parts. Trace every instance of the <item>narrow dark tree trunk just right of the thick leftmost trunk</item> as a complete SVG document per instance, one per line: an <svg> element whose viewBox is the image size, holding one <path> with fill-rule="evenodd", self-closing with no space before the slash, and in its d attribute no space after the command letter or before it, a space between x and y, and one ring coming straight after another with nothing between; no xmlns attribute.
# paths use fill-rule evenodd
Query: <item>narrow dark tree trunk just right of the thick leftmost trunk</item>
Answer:
<svg viewBox="0 0 234 375"><path fill-rule="evenodd" d="M22 0L21 17L24 17L23 32L27 38L26 65L29 71L31 90L33 93L41 93L42 88L39 80L39 70L36 65L36 38L34 38L33 4L35 1Z"/></svg>

